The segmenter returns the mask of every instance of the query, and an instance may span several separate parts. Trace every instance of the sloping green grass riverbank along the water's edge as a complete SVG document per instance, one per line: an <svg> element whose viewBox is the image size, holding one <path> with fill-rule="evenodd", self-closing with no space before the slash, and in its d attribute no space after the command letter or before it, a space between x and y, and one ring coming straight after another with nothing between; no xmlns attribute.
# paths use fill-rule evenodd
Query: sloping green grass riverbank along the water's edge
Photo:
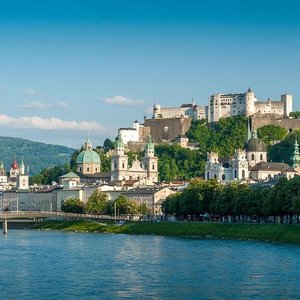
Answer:
<svg viewBox="0 0 300 300"><path fill-rule="evenodd" d="M289 224L224 224L224 223L113 223L90 221L44 221L34 226L39 230L75 232L156 234L177 237L211 237L300 244L300 225Z"/></svg>

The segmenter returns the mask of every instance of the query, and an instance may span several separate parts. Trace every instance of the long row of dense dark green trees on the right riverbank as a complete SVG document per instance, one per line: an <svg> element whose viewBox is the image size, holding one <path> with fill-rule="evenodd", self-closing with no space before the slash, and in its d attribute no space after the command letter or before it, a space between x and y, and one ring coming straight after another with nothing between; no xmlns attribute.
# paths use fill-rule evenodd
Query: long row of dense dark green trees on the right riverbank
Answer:
<svg viewBox="0 0 300 300"><path fill-rule="evenodd" d="M182 192L169 196L163 203L165 214L192 219L208 215L210 220L232 219L235 221L257 219L273 221L284 218L299 221L300 177L291 180L281 178L269 186L249 187L235 183L221 185L217 181L192 180Z"/></svg>

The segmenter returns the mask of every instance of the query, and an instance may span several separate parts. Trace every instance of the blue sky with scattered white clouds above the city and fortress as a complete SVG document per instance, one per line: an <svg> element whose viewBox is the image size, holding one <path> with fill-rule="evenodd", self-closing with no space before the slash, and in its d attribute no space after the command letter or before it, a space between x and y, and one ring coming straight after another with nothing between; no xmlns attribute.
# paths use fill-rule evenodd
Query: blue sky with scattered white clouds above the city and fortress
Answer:
<svg viewBox="0 0 300 300"><path fill-rule="evenodd" d="M297 1L2 1L0 135L79 148L214 93L294 96Z"/></svg>

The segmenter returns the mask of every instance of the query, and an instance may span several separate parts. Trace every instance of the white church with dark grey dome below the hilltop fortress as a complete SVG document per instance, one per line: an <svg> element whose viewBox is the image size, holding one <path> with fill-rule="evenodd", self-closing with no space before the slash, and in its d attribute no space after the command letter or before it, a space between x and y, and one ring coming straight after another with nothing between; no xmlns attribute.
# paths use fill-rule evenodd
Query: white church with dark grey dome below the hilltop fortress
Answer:
<svg viewBox="0 0 300 300"><path fill-rule="evenodd" d="M253 131L251 138L248 126L248 135L245 148L237 149L229 159L219 158L218 153L210 152L205 164L205 179L216 179L220 182L231 181L262 181L285 176L292 178L297 174L300 157L297 137L292 157L293 167L283 162L268 162L267 147Z"/></svg>

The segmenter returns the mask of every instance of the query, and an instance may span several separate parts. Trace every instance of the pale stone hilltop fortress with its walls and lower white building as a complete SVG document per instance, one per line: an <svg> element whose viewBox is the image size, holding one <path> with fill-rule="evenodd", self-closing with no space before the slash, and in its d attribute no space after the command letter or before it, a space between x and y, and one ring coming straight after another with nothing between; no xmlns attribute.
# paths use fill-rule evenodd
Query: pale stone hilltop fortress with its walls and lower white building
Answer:
<svg viewBox="0 0 300 300"><path fill-rule="evenodd" d="M207 106L199 106L194 100L180 107L162 107L160 104L154 104L152 118L145 118L143 124L135 121L132 127L119 128L118 134L126 147L140 151L150 134L157 143L178 143L180 137L186 138L185 134L193 120L207 119L208 123L213 123L220 118L238 115L255 116L258 119L262 116L286 119L292 110L292 95L283 94L280 100L275 101L259 100L249 88L244 93L211 95ZM193 145L187 143L186 147Z"/></svg>

